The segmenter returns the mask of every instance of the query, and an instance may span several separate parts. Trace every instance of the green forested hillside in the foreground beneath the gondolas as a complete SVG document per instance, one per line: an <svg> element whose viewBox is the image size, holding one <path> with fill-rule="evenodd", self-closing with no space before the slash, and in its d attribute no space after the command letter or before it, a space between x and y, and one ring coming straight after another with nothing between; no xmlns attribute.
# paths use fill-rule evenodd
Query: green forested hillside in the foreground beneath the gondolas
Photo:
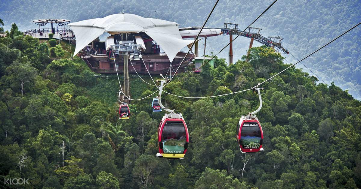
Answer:
<svg viewBox="0 0 361 189"><path fill-rule="evenodd" d="M235 130L240 116L257 108L257 94L163 95L190 132L185 158L165 159L156 157L164 114L152 112L152 98L132 101L130 119L119 120L117 78L94 77L69 50L22 36L16 24L0 39L0 185L2 178L28 178L27 188L361 187L361 103L334 83L292 67L262 85L264 152L253 154L240 152ZM206 64L165 90L227 94L289 66L265 46L252 48L248 59L227 66L217 58L217 68ZM138 77L130 82L134 99L156 90Z"/></svg>

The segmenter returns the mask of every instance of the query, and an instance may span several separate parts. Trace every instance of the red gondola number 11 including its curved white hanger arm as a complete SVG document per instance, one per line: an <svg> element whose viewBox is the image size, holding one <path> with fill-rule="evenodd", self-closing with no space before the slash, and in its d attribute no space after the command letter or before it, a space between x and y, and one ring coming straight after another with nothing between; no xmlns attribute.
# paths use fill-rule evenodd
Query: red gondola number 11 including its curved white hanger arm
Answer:
<svg viewBox="0 0 361 189"><path fill-rule="evenodd" d="M262 88L263 89L263 88ZM237 141L242 153L246 152L259 152L263 151L263 131L256 113L262 108L262 98L260 89L258 91L258 96L260 99L260 106L254 112L248 113L246 116L240 118L237 125Z"/></svg>

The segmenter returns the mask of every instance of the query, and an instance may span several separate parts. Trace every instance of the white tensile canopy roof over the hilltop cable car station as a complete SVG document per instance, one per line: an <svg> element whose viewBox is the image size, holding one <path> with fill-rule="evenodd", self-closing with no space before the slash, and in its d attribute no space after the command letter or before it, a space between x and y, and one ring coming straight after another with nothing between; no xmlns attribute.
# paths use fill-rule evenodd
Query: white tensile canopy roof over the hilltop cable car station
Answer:
<svg viewBox="0 0 361 189"><path fill-rule="evenodd" d="M182 39L178 24L175 22L144 18L135 14L112 14L104 18L70 23L69 26L77 39L73 56L105 32L111 35L122 32L145 32L161 46L170 62L181 49L193 42Z"/></svg>

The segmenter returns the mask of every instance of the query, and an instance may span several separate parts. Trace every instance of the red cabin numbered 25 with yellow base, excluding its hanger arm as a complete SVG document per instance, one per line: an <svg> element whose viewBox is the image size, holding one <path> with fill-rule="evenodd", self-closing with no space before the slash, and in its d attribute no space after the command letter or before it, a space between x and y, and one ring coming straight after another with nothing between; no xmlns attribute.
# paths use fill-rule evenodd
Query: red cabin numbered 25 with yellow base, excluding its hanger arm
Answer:
<svg viewBox="0 0 361 189"><path fill-rule="evenodd" d="M184 158L189 143L188 128L183 117L164 116L158 127L158 157Z"/></svg>

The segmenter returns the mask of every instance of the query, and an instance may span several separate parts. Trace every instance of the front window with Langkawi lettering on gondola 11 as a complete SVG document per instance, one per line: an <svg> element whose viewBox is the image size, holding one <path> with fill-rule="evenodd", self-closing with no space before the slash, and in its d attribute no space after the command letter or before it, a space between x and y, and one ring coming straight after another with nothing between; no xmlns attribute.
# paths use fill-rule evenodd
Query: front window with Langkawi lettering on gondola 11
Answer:
<svg viewBox="0 0 361 189"><path fill-rule="evenodd" d="M243 123L241 131L243 148L259 148L261 130L257 122Z"/></svg>

